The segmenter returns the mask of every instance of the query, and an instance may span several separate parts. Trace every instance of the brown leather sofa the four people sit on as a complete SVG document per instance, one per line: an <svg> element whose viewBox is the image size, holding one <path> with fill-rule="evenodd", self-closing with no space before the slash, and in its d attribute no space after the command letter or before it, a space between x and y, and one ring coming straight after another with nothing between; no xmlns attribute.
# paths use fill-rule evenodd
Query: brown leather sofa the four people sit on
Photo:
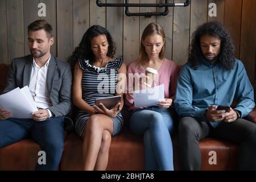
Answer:
<svg viewBox="0 0 256 182"><path fill-rule="evenodd" d="M0 64L0 93L5 85L8 66ZM128 117L124 113L125 118ZM256 110L247 117L256 123ZM127 120L127 119L126 119ZM75 133L65 133L65 148L59 170L82 169L82 140ZM174 146L174 166L179 170L177 134L172 137ZM237 166L238 146L213 138L200 140L202 156L201 170L233 170ZM39 158L38 144L31 139L24 139L10 146L0 148L0 170L33 170ZM209 152L217 152L217 164L209 164ZM109 151L107 170L144 170L144 147L142 137L137 137L126 126L122 133L113 137Z"/></svg>

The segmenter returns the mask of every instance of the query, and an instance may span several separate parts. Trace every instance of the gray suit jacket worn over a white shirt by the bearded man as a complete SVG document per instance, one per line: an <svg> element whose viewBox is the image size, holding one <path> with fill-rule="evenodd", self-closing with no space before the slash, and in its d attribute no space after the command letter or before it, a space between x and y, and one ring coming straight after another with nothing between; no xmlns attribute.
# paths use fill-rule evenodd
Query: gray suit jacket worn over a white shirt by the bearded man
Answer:
<svg viewBox="0 0 256 182"><path fill-rule="evenodd" d="M29 85L32 65L32 55L13 59L3 93ZM67 115L72 108L72 72L69 64L51 55L46 82L53 105L48 109L53 117Z"/></svg>

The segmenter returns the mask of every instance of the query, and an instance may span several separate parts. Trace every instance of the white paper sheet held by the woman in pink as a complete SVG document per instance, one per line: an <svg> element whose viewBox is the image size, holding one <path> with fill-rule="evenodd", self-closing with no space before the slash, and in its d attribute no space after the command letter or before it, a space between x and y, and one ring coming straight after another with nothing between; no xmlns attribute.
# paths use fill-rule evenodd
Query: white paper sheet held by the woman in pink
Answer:
<svg viewBox="0 0 256 182"><path fill-rule="evenodd" d="M135 91L133 97L135 107L157 106L156 102L164 100L164 84Z"/></svg>

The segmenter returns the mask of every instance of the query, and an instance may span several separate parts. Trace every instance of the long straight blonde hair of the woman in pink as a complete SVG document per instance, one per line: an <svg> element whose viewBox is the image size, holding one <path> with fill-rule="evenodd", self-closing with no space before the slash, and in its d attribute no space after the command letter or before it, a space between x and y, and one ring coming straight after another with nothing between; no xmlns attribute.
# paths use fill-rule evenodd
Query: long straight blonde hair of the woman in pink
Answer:
<svg viewBox="0 0 256 182"><path fill-rule="evenodd" d="M164 34L163 27L160 26L160 24L154 23L154 22L148 24L141 36L141 47L139 48L139 59L138 59L137 65L142 64L144 61L148 60L147 52L145 50L145 47L143 46L143 41L146 39L148 35L155 35L155 34L162 36L162 38L166 40L166 34ZM166 44L163 45L162 50L159 53L160 59L164 59L165 52L166 52Z"/></svg>

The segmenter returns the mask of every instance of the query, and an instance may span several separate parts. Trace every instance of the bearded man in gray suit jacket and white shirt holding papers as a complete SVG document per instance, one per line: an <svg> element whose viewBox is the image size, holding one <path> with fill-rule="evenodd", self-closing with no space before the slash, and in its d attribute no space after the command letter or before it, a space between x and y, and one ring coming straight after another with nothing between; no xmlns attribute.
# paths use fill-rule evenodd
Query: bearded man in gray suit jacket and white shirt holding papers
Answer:
<svg viewBox="0 0 256 182"><path fill-rule="evenodd" d="M46 152L46 164L36 170L55 170L64 149L64 115L71 111L72 73L68 63L51 55L54 42L52 27L46 20L28 26L28 47L31 55L19 57L10 65L7 93L28 85L38 111L31 118L11 118L11 111L0 108L0 148L32 137Z"/></svg>

